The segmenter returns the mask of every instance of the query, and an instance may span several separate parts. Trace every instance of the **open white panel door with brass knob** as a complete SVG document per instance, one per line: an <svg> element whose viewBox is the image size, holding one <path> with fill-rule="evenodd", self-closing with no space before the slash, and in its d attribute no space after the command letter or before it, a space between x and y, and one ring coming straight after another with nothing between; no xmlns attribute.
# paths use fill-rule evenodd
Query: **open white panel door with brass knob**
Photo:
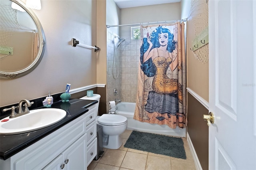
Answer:
<svg viewBox="0 0 256 170"><path fill-rule="evenodd" d="M255 170L256 1L208 3L209 170Z"/></svg>

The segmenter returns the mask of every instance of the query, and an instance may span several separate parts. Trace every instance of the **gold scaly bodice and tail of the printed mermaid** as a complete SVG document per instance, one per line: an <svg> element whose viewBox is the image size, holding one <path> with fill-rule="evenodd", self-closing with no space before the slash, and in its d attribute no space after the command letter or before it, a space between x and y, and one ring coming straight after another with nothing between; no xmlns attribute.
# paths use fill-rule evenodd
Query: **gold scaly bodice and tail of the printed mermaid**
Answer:
<svg viewBox="0 0 256 170"><path fill-rule="evenodd" d="M166 71L171 62L170 57L167 59L162 56L154 58L156 75L152 82L152 89L159 94L178 93L178 101L183 104L182 85L178 83L178 79L169 79L166 76Z"/></svg>

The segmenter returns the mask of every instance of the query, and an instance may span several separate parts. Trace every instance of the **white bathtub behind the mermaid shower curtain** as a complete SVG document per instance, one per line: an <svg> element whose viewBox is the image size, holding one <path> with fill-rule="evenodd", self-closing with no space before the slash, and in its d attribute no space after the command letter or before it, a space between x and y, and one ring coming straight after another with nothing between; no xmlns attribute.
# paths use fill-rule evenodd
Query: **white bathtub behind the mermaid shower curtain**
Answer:
<svg viewBox="0 0 256 170"><path fill-rule="evenodd" d="M155 134L164 134L170 136L185 137L186 128L172 129L167 125L150 124L146 122L140 122L133 119L136 103L120 102L116 107L112 108L111 111L115 111L117 115L127 117L128 127L127 130L137 130L140 132L148 132Z"/></svg>

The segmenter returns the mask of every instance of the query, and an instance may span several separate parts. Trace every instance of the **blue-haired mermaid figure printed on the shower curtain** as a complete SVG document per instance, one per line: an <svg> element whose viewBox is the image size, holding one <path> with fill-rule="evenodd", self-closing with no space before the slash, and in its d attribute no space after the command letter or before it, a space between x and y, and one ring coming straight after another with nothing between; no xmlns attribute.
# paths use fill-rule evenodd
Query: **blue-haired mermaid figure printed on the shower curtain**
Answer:
<svg viewBox="0 0 256 170"><path fill-rule="evenodd" d="M178 103L183 104L182 85L178 79L169 78L178 67L178 43L169 29L158 26L147 38L143 38L140 47L140 68L147 77L154 77L152 90L148 93L145 110L148 113L157 112L177 116ZM159 121L165 119L162 115L156 117ZM176 122L174 122L176 123Z"/></svg>

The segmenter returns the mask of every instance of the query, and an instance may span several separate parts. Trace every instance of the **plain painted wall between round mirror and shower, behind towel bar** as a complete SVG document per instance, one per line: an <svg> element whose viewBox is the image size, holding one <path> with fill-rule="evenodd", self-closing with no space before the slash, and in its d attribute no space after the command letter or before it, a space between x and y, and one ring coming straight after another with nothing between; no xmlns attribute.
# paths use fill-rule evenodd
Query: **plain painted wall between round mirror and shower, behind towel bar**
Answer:
<svg viewBox="0 0 256 170"><path fill-rule="evenodd" d="M28 75L0 80L0 106L96 84L96 52L72 47L71 39L96 45L96 1L41 0L38 16L46 37L42 61Z"/></svg>

